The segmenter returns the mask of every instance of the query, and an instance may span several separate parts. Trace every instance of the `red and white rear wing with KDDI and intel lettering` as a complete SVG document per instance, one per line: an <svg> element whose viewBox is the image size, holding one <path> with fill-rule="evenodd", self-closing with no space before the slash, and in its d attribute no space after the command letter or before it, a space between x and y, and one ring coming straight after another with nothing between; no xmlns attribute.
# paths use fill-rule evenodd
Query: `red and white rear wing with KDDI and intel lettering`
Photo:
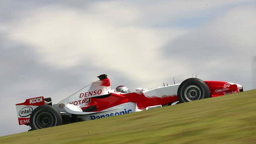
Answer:
<svg viewBox="0 0 256 144"><path fill-rule="evenodd" d="M29 125L29 119L32 111L38 106L44 104L51 104L51 99L40 96L36 98L29 98L23 103L16 104L19 125Z"/></svg>

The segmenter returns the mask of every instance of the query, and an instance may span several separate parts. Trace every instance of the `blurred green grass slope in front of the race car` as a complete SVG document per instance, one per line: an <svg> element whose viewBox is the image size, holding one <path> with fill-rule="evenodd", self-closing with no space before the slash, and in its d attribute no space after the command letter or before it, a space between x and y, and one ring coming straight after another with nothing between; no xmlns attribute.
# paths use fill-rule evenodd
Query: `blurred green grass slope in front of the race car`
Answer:
<svg viewBox="0 0 256 144"><path fill-rule="evenodd" d="M4 144L255 144L256 90L0 137Z"/></svg>

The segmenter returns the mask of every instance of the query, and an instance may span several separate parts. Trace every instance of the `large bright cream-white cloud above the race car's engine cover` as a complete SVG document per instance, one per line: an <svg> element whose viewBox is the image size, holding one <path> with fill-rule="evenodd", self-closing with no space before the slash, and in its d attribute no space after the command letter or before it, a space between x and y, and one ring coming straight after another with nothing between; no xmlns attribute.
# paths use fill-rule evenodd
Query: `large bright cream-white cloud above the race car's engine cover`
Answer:
<svg viewBox="0 0 256 144"><path fill-rule="evenodd" d="M13 25L9 36L34 47L43 57L42 63L60 68L85 63L143 81L170 64L159 60L158 50L184 30L123 26L124 22L136 19L139 12L120 8L114 14L112 7L104 6L102 10L102 6L95 6L95 9L98 7L100 10L94 14L59 7L42 8ZM110 13L106 8L110 8ZM108 17L115 17L114 25L113 21L106 21ZM159 77L162 76L152 78Z"/></svg>

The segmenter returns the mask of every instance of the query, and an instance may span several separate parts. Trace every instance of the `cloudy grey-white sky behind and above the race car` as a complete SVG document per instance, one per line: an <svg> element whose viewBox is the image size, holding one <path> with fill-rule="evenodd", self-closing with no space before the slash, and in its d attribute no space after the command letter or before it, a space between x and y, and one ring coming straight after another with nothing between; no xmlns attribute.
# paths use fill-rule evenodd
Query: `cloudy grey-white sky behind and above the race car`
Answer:
<svg viewBox="0 0 256 144"><path fill-rule="evenodd" d="M29 129L16 103L104 73L131 91L197 73L256 88L255 32L255 0L0 0L0 136Z"/></svg>

